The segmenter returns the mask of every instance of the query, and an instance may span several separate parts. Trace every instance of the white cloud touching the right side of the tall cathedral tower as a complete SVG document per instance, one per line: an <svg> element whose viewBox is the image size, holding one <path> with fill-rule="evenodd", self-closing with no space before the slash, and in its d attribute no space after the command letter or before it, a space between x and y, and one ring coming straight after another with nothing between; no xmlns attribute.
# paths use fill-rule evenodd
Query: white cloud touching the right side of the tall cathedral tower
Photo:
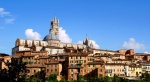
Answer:
<svg viewBox="0 0 150 82"><path fill-rule="evenodd" d="M66 30L62 27L59 28L59 40L64 43L71 43L72 39L69 37L69 35L66 33Z"/></svg>

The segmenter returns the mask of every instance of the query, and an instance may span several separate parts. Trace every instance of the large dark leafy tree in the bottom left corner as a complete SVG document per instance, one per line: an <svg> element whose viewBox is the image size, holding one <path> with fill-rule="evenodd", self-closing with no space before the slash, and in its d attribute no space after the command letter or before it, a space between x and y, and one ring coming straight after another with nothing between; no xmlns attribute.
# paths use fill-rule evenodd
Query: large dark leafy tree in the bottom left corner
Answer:
<svg viewBox="0 0 150 82"><path fill-rule="evenodd" d="M22 57L11 58L11 61L4 62L5 69L0 70L0 81L21 82L26 77L26 63L22 61Z"/></svg>

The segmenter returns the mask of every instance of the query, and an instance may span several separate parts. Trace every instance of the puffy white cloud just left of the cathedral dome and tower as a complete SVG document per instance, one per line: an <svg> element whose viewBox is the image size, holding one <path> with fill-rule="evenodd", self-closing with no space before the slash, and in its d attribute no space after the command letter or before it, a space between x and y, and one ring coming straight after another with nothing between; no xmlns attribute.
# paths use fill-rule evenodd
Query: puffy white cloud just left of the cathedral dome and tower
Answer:
<svg viewBox="0 0 150 82"><path fill-rule="evenodd" d="M28 39L41 40L41 35L38 32L34 32L33 29L25 30L25 35Z"/></svg>

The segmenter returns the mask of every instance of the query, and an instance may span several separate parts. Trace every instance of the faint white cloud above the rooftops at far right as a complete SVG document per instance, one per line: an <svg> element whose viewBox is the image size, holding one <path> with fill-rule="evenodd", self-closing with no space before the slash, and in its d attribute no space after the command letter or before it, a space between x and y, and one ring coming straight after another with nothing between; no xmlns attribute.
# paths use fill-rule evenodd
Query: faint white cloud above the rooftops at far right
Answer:
<svg viewBox="0 0 150 82"><path fill-rule="evenodd" d="M145 49L144 44L136 42L134 38L130 38L128 42L125 41L123 44L123 48L135 50Z"/></svg>

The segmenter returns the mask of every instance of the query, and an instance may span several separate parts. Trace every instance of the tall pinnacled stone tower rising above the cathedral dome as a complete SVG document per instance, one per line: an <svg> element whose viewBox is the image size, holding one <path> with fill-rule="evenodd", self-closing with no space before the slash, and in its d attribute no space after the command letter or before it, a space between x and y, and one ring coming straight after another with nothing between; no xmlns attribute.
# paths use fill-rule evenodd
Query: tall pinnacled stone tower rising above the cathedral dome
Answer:
<svg viewBox="0 0 150 82"><path fill-rule="evenodd" d="M50 24L49 33L59 37L59 21L56 19L56 17L54 17Z"/></svg>

